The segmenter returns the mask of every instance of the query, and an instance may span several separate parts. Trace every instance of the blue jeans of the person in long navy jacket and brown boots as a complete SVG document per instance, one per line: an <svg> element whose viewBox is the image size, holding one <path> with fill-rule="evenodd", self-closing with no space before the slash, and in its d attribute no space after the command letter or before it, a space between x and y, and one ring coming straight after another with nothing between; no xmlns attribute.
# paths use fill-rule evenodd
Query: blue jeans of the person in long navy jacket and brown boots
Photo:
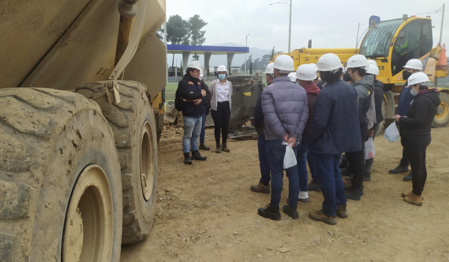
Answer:
<svg viewBox="0 0 449 262"><path fill-rule="evenodd" d="M338 206L346 204L345 186L341 179L340 154L316 154L314 157L314 167L318 172L321 181L321 191L323 192L323 214L336 216Z"/></svg>

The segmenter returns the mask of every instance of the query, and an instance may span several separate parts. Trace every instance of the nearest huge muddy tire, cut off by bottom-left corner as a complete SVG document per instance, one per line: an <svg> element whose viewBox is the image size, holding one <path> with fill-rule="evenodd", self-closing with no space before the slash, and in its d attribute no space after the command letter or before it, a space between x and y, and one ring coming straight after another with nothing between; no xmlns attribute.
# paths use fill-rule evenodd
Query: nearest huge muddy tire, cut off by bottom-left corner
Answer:
<svg viewBox="0 0 449 262"><path fill-rule="evenodd" d="M0 108L0 261L120 261L120 165L99 106L14 88Z"/></svg>

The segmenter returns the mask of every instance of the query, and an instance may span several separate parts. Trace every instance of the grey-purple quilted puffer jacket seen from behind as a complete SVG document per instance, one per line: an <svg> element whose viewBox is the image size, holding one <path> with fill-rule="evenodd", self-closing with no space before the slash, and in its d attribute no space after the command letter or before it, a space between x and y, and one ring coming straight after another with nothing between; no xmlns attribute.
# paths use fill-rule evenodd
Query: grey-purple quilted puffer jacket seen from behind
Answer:
<svg viewBox="0 0 449 262"><path fill-rule="evenodd" d="M262 92L262 111L265 139L281 139L289 133L300 140L309 119L307 93L289 77L277 77Z"/></svg>

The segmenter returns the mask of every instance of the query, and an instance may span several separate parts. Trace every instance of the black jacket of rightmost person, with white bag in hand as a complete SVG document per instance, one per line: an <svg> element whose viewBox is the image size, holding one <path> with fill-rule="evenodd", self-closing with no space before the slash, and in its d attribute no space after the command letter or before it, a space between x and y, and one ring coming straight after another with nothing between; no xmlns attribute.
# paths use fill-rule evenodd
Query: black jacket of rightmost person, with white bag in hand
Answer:
<svg viewBox="0 0 449 262"><path fill-rule="evenodd" d="M437 89L423 90L412 101L407 117L400 117L401 130L405 136L430 137L430 125L437 114L439 106Z"/></svg>

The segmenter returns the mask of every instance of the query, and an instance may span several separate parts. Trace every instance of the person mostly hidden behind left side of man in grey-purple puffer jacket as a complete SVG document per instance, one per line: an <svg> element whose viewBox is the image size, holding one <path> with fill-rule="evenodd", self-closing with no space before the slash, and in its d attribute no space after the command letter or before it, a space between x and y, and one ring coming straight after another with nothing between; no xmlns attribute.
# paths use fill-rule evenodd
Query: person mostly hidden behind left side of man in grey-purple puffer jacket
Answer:
<svg viewBox="0 0 449 262"><path fill-rule="evenodd" d="M273 63L269 63L265 68L265 79L267 85L273 82L274 77ZM269 181L271 180L271 174L269 171L269 159L267 152L267 144L265 143L265 121L262 111L262 92L256 101L256 107L254 108L254 128L257 132L257 149L259 152L259 166L260 166L260 180L257 185L251 185L251 191L263 194L269 194Z"/></svg>

